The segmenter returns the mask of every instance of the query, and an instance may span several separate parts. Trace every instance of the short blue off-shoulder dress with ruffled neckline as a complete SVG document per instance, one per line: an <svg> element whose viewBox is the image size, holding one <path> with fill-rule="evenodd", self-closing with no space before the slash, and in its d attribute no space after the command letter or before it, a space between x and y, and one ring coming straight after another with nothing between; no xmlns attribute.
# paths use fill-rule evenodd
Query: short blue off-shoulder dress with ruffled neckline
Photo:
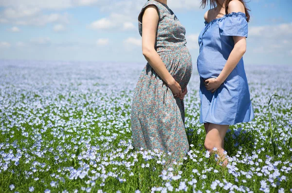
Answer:
<svg viewBox="0 0 292 193"><path fill-rule="evenodd" d="M204 80L216 78L234 48L232 36L246 37L248 23L242 12L226 14L221 18L205 21L199 35L200 54L197 60L200 75L201 123L234 125L254 119L248 82L241 58L226 80L211 93Z"/></svg>

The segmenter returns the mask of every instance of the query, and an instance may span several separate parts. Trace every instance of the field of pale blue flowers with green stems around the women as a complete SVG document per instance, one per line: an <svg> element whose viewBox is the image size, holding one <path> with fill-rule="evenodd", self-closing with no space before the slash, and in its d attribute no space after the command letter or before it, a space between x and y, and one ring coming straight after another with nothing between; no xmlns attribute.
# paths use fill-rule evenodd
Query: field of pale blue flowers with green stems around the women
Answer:
<svg viewBox="0 0 292 193"><path fill-rule="evenodd" d="M194 64L178 172L132 144L144 66L0 60L0 193L292 192L292 66L245 66L256 118L230 127L222 168L203 146Z"/></svg>

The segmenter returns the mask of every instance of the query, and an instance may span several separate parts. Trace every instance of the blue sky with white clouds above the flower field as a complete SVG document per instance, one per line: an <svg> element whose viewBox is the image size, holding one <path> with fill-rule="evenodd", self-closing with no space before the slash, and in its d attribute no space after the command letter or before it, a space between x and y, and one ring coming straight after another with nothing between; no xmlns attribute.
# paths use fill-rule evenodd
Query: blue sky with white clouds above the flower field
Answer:
<svg viewBox="0 0 292 193"><path fill-rule="evenodd" d="M201 0L168 0L194 61ZM138 14L146 0L0 0L0 58L145 62ZM250 0L247 64L292 65L292 0Z"/></svg>

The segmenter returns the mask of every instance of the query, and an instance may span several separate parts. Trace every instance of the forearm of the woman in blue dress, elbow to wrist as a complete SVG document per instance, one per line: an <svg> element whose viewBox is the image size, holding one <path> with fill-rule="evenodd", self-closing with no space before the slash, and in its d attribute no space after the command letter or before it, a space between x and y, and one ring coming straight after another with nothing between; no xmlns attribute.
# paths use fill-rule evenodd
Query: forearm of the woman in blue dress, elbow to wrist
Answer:
<svg viewBox="0 0 292 193"><path fill-rule="evenodd" d="M235 69L237 63L242 58L245 53L245 49L242 49L240 46L235 46L231 51L224 68L217 77L218 81L222 84L230 73Z"/></svg>

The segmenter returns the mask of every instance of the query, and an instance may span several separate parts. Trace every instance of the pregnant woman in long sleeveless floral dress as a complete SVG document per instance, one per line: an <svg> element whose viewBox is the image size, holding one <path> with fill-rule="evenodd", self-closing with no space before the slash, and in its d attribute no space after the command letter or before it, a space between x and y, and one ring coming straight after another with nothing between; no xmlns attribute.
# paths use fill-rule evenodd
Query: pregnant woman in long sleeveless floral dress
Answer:
<svg viewBox="0 0 292 193"><path fill-rule="evenodd" d="M183 97L192 59L185 46L185 28L166 1L147 1L138 17L143 55L148 62L135 89L131 129L137 151L170 152L164 165L169 168L189 150Z"/></svg>

